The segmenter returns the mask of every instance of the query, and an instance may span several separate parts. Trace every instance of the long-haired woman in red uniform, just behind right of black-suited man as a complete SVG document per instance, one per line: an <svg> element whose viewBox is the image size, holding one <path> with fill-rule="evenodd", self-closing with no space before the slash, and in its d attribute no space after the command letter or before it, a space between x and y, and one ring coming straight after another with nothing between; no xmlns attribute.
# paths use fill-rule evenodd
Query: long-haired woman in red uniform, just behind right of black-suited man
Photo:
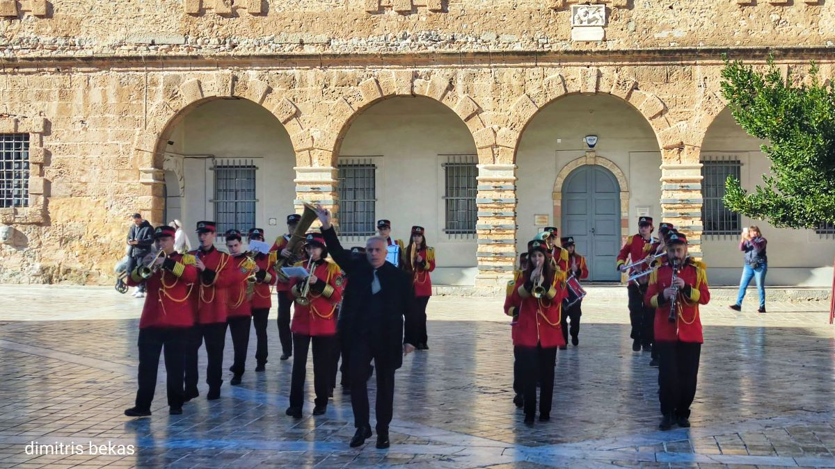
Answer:
<svg viewBox="0 0 835 469"><path fill-rule="evenodd" d="M435 250L426 245L423 226L412 226L412 238L406 249L406 271L412 275L415 299L412 320L417 331L417 350L429 350L426 333L426 305L432 296L432 278L429 273L435 270Z"/></svg>

